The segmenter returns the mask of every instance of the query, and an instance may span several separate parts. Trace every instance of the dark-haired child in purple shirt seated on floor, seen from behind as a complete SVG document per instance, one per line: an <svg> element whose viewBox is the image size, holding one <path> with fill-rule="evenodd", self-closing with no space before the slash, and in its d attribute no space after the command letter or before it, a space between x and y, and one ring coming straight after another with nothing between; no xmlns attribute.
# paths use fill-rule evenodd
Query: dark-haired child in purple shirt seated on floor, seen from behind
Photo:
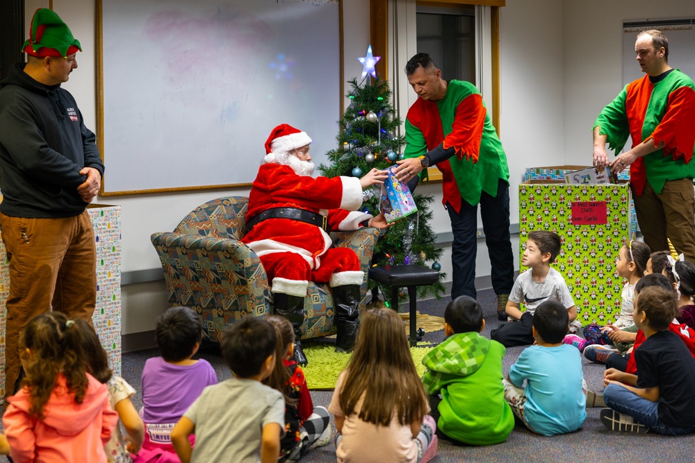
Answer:
<svg viewBox="0 0 695 463"><path fill-rule="evenodd" d="M154 330L161 357L147 359L142 370L142 421L145 442L136 463L177 462L171 432L193 401L217 376L207 360L193 360L203 326L188 307L172 307Z"/></svg>

